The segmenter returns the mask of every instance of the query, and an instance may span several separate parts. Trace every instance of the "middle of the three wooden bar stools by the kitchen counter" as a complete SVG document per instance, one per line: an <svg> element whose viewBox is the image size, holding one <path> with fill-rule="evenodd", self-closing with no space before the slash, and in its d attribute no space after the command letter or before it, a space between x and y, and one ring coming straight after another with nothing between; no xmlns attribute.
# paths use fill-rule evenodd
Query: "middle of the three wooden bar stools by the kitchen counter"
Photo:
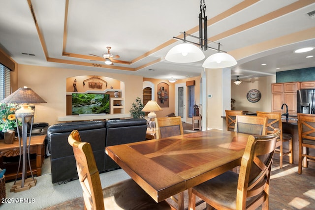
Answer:
<svg viewBox="0 0 315 210"><path fill-rule="evenodd" d="M282 120L281 120L281 113L279 112L260 112L257 111L258 117L267 117L268 124L267 124L267 133L272 133L275 128L279 128L280 133L280 141L276 144L276 153L279 153L280 161L279 166L280 168L283 167L283 157L285 155L289 156L289 163L293 163L293 135L289 133L284 133L282 128ZM283 143L288 142L289 149L288 151L284 152L283 150Z"/></svg>

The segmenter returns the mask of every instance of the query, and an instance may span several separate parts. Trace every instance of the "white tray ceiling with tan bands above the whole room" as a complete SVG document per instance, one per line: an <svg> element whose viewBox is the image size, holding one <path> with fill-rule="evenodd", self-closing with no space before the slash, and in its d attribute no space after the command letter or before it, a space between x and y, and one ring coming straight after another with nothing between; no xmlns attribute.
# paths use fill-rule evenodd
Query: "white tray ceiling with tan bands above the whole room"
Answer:
<svg viewBox="0 0 315 210"><path fill-rule="evenodd" d="M203 60L171 63L164 59L171 47L181 43L173 36L179 36L181 31L198 36L198 0L29 2L0 0L0 48L17 63L157 79L182 79L199 76L203 71ZM307 15L315 10L315 0L206 0L205 3L208 38L220 42L221 50L238 61L231 68L232 79L237 75L248 79L315 66L315 57L305 58L315 56L315 50L293 53L301 47L315 47L315 32L311 37L300 35L301 31L315 31L315 18ZM270 43L274 45L268 46ZM103 61L90 61L89 54L102 56L107 46L112 47L112 54L120 56L117 60L131 63L105 65ZM253 53L241 55L242 49ZM66 53L80 58L64 56ZM208 49L204 53L207 58L215 51ZM261 66L262 63L267 65Z"/></svg>

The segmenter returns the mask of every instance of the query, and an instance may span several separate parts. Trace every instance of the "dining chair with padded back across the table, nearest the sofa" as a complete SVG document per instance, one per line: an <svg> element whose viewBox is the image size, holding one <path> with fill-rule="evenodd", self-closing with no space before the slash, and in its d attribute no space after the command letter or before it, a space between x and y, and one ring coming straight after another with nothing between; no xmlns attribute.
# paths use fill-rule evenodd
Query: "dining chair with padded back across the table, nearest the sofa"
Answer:
<svg viewBox="0 0 315 210"><path fill-rule="evenodd" d="M184 134L181 117L155 118L155 122L157 139Z"/></svg>

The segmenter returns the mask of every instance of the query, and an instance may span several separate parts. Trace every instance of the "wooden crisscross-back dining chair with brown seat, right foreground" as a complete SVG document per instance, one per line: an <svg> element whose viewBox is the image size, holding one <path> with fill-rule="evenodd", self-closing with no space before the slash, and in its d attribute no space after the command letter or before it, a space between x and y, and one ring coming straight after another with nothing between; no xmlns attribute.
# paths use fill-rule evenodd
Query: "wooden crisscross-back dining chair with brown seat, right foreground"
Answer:
<svg viewBox="0 0 315 210"><path fill-rule="evenodd" d="M269 209L269 180L280 130L268 135L250 135L241 161L240 174L227 171L189 189L189 210L195 210L195 196L207 203L207 210Z"/></svg>

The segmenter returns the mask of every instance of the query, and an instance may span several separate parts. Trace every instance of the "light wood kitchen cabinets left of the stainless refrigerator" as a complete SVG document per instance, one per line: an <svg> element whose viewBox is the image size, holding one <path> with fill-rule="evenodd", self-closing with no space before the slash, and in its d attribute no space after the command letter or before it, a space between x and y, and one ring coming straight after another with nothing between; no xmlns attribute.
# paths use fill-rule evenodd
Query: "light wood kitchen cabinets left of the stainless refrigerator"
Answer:
<svg viewBox="0 0 315 210"><path fill-rule="evenodd" d="M299 82L271 84L272 91L272 112L286 112L281 109L282 104L288 106L289 115L296 116L297 112L297 90L300 90Z"/></svg>

